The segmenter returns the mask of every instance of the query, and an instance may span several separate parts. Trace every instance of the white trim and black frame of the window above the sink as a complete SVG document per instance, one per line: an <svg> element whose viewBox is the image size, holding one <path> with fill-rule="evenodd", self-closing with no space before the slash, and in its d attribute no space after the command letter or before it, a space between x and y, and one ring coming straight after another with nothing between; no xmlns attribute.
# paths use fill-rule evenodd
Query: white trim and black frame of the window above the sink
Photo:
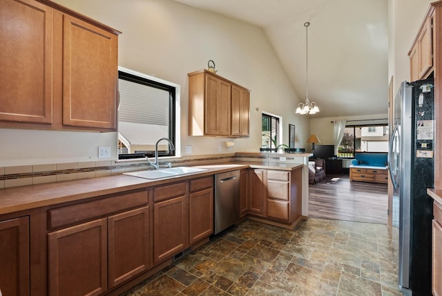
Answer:
<svg viewBox="0 0 442 296"><path fill-rule="evenodd" d="M122 77L120 77L120 74ZM169 109L169 135L171 136L171 140L175 145L175 150L172 151L172 153L164 155L159 154L158 157L162 158L175 158L175 157L181 157L181 105L180 105L180 93L181 93L181 86L179 84L175 84L173 82L169 82L166 80L162 80L157 77L153 77L151 75L146 75L144 73L140 73L137 71L133 71L128 68L124 68L122 66L118 66L118 77L117 79L123 79L135 83L140 83L146 86L152 86L158 89L163 89L166 91L169 91L169 100L171 102L175 102L173 104L172 110ZM174 89L174 91L173 91ZM119 104L119 102L118 102ZM171 124L172 120L175 120L175 124ZM118 122L118 120L117 120ZM118 131L117 131L118 133ZM118 136L117 136L118 141ZM123 156L122 156L123 155ZM122 158L120 158L122 156ZM148 157L153 157L153 155L148 154ZM136 159L145 159L144 154L118 154L117 160L136 160Z"/></svg>

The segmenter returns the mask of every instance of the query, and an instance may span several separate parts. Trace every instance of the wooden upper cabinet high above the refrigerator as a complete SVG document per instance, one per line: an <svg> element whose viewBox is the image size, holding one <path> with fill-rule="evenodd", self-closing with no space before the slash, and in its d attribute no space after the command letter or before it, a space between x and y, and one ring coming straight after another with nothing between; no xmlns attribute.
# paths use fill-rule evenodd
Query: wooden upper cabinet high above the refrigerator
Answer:
<svg viewBox="0 0 442 296"><path fill-rule="evenodd" d="M417 35L410 56L410 80L416 81L430 75L433 61L433 19L434 10L430 8Z"/></svg>

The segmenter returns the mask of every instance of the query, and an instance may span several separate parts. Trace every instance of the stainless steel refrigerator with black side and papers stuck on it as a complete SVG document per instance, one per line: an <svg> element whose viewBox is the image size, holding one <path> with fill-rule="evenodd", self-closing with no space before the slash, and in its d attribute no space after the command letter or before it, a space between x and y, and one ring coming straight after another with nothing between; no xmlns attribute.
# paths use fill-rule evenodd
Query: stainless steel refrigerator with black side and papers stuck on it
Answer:
<svg viewBox="0 0 442 296"><path fill-rule="evenodd" d="M398 284L404 295L431 295L434 184L433 80L403 82L394 100L389 169L398 228Z"/></svg>

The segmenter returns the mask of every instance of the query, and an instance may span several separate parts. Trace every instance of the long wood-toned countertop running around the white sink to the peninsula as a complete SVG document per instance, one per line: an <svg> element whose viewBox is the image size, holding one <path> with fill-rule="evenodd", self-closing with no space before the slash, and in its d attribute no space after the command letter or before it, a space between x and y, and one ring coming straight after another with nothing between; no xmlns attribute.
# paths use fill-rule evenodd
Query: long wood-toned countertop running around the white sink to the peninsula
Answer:
<svg viewBox="0 0 442 296"><path fill-rule="evenodd" d="M137 178L121 174L74 181L4 188L0 189L0 214L30 210L37 207L56 205L68 201L79 201L81 199L93 198L95 196L118 194L120 192L151 186L165 185L167 183L189 180L191 178L200 178L222 172L229 172L234 169L262 168L291 171L294 169L300 169L302 165L295 163L268 163L266 161L238 161L222 163L220 165L201 165L195 167L202 167L207 170L194 174L156 180L148 180L145 178Z"/></svg>

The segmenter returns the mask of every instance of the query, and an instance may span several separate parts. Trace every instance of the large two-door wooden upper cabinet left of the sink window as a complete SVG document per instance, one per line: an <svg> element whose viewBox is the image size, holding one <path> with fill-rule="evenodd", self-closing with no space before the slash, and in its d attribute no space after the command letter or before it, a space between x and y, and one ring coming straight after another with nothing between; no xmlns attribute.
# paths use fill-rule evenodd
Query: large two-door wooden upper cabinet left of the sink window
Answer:
<svg viewBox="0 0 442 296"><path fill-rule="evenodd" d="M116 130L119 31L48 0L0 19L0 127Z"/></svg>

